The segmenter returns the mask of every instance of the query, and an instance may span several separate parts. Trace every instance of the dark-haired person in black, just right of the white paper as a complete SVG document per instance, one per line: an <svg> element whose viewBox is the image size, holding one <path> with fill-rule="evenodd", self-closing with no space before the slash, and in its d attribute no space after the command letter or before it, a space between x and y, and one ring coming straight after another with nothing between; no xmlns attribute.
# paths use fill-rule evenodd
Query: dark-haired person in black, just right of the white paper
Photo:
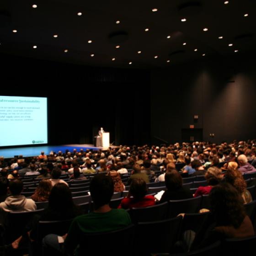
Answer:
<svg viewBox="0 0 256 256"><path fill-rule="evenodd" d="M165 173L165 186L167 190L162 195L159 203L193 197L189 189L182 187L182 177L176 169L170 169Z"/></svg>

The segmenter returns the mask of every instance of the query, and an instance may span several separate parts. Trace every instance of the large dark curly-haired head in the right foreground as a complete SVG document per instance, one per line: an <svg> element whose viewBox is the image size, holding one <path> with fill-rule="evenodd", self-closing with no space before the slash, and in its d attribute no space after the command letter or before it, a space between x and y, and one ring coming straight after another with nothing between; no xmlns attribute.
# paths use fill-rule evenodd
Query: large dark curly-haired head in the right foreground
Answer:
<svg viewBox="0 0 256 256"><path fill-rule="evenodd" d="M233 226L237 229L245 218L243 199L229 183L220 183L212 188L210 194L211 212L217 226Z"/></svg>

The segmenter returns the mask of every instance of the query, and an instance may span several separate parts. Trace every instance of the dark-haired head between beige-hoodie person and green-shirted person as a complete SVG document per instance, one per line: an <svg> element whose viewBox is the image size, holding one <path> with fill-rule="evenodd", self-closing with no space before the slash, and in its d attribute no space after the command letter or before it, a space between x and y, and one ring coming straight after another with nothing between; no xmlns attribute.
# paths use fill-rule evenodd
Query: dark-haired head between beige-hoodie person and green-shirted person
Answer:
<svg viewBox="0 0 256 256"><path fill-rule="evenodd" d="M69 187L65 183L55 184L49 195L49 208L62 212L73 207L74 203Z"/></svg>

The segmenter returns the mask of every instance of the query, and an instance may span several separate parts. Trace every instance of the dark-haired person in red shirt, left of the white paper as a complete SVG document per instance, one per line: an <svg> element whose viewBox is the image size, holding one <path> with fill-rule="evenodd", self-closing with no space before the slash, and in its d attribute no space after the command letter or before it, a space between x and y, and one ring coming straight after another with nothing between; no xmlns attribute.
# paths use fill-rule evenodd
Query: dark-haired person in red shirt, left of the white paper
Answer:
<svg viewBox="0 0 256 256"><path fill-rule="evenodd" d="M155 205L155 197L147 195L147 193L146 182L143 179L134 179L128 196L123 198L118 208L129 209Z"/></svg>

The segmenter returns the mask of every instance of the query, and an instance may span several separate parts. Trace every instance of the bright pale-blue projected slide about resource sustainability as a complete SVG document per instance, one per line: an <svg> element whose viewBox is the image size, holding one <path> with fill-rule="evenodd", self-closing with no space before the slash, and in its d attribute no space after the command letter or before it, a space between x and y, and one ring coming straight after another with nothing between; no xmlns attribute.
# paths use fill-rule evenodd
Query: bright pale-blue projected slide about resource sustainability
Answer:
<svg viewBox="0 0 256 256"><path fill-rule="evenodd" d="M47 98L0 96L0 147L45 144Z"/></svg>

